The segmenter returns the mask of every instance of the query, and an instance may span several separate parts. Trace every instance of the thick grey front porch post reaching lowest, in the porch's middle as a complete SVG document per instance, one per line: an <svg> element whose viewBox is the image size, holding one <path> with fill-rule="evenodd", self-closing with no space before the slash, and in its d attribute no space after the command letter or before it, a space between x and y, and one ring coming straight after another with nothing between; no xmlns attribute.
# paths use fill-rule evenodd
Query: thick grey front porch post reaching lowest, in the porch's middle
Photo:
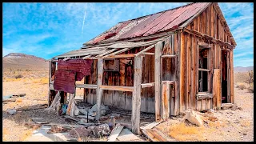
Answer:
<svg viewBox="0 0 256 144"><path fill-rule="evenodd" d="M134 134L140 134L140 110L142 89L142 56L134 58L134 92L132 97L131 126Z"/></svg>

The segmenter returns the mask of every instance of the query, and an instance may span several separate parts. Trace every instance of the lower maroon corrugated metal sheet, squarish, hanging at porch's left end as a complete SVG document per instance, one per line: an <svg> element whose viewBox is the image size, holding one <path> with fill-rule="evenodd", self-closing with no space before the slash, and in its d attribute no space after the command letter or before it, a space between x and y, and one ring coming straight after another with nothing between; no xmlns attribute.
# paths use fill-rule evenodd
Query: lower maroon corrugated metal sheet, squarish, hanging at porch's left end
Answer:
<svg viewBox="0 0 256 144"><path fill-rule="evenodd" d="M54 79L54 90L65 91L74 94L75 72L67 70L56 70Z"/></svg>

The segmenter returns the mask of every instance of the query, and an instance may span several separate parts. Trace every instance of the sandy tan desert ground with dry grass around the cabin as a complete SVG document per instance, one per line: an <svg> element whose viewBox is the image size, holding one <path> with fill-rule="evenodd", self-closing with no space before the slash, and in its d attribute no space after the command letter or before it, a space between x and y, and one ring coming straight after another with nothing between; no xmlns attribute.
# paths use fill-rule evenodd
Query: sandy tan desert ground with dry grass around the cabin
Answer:
<svg viewBox="0 0 256 144"><path fill-rule="evenodd" d="M25 126L30 118L42 117L48 122L70 124L54 113L46 113L44 109L30 110L47 104L48 70L7 71L2 77L3 96L26 94L26 97L18 98L15 102L2 104L3 141L24 141L30 137L37 129ZM197 112L204 118L203 126L183 121L182 116L172 117L155 126L154 130L166 134L170 141L254 141L254 93L247 89L250 87L244 82L247 77L247 73L234 74L234 97L239 109ZM77 90L77 95L82 95L82 90ZM18 110L17 114L7 114L8 108Z"/></svg>

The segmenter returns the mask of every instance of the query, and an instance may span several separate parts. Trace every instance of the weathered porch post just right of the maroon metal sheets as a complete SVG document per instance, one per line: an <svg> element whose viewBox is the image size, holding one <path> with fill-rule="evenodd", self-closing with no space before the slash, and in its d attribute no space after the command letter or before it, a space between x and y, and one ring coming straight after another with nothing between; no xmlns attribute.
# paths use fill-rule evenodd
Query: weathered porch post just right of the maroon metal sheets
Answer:
<svg viewBox="0 0 256 144"><path fill-rule="evenodd" d="M103 60L102 58L98 59L98 78L97 78L97 89L96 89L96 96L97 96L97 115L96 120L101 117L101 104L102 104L102 89L99 87L102 85L102 74L103 74Z"/></svg>

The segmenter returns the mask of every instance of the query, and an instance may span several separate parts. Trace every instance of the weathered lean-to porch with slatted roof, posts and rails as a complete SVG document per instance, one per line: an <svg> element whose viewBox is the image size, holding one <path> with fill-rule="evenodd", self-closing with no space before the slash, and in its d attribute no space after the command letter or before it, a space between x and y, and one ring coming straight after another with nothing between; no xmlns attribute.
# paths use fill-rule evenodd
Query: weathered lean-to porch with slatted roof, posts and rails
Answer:
<svg viewBox="0 0 256 144"><path fill-rule="evenodd" d="M74 50L66 54L59 55L52 59L50 62L50 97L49 105L51 104L56 91L54 90L54 74L58 62L66 61L69 59L85 59L93 61L92 69L97 73L94 74L94 82L92 78L86 75L84 78L84 84L76 84L76 88L84 89L84 102L89 102L88 94L94 91L96 96L96 103L98 106L96 119L101 116L100 104L106 102L106 93L114 93L116 98L124 98L125 96L131 97L130 110L132 111L132 131L136 134L140 133L140 113L141 111L155 113L155 120L169 118L170 114L178 115L178 96L177 96L177 79L178 73L177 67L177 52L178 47L174 49L174 34L164 35L158 38L152 38L146 42L115 42L110 45L103 46L86 46L86 49ZM142 40L144 41L144 40ZM85 46L83 47L85 48ZM152 61L154 61L152 63ZM166 62L168 61L168 62ZM147 64L146 64L147 63ZM171 63L172 66L166 66ZM130 81L126 85L127 74L125 74L126 64L129 64L128 70L130 74ZM146 66L154 67L146 67ZM163 70L170 69L174 70ZM58 68L57 68L58 69ZM154 72L152 72L154 70ZM106 73L114 73L118 71L120 78L115 78L114 82L105 82L109 79L106 78ZM143 73L143 74L142 74ZM142 75L147 73L147 80L142 81ZM164 73L164 74L163 74ZM97 80L96 80L97 78ZM143 78L144 79L144 78ZM115 84L116 86L114 86ZM164 90L162 90L162 88ZM142 92L151 94L151 98L142 98ZM66 103L66 92L61 92L62 102ZM75 92L74 92L75 94ZM74 97L71 94L71 97ZM172 96L170 97L170 94ZM163 95L163 97L162 97ZM90 97L91 98L91 97ZM149 100L150 99L150 100ZM149 104L151 102L151 105ZM143 108L141 106L143 104ZM170 104L171 103L171 104ZM105 103L104 103L105 104ZM106 103L106 106L110 103ZM146 105L150 109L146 109ZM170 106L174 106L170 109ZM129 107L124 107L125 109ZM143 110L144 109L144 110Z"/></svg>

